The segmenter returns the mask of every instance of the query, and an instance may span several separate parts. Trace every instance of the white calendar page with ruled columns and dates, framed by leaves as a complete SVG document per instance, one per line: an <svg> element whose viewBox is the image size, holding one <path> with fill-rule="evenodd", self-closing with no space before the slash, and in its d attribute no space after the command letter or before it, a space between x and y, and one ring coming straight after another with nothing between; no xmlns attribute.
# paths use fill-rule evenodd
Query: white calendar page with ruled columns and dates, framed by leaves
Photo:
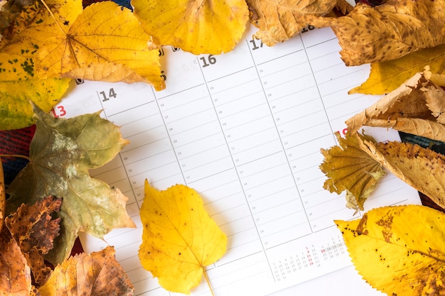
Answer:
<svg viewBox="0 0 445 296"><path fill-rule="evenodd" d="M353 216L343 195L323 189L318 167L320 149L336 145L334 133L345 133L345 119L378 99L347 94L369 67L345 67L330 28L308 27L272 48L252 33L223 55L162 48L161 92L143 83L79 81L53 110L60 117L102 110L131 142L91 173L129 197L137 228L116 229L104 241L82 235L82 244L88 252L114 246L135 295L174 295L139 263L144 180L158 190L193 187L227 234L227 253L207 268L216 296L285 295L280 291L292 286L308 295L314 285L329 289L335 279L329 274L352 268L333 220L361 213ZM367 133L398 139L382 129ZM419 203L415 190L388 174L366 206ZM352 274L336 283L361 281L366 294L360 295L377 293ZM314 278L321 280L307 285ZM329 292L357 295L341 287ZM210 295L208 285L203 281L192 295Z"/></svg>

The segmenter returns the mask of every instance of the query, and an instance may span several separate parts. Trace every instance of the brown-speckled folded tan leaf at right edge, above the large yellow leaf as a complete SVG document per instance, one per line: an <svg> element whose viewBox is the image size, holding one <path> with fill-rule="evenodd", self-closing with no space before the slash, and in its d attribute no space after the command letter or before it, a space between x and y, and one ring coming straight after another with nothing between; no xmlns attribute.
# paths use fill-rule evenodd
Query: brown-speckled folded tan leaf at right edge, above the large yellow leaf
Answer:
<svg viewBox="0 0 445 296"><path fill-rule="evenodd" d="M373 143L360 147L400 180L445 208L445 156L412 143Z"/></svg>

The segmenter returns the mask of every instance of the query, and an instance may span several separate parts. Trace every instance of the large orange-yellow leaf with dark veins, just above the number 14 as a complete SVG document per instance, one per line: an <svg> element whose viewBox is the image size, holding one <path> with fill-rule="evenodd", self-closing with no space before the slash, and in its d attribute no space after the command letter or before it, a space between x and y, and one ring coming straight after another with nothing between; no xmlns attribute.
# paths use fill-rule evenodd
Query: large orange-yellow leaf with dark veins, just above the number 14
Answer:
<svg viewBox="0 0 445 296"><path fill-rule="evenodd" d="M50 0L48 9L41 9L35 20L11 43L25 40L38 46L38 77L147 82L156 90L165 87L159 51L149 47L151 37L129 9L104 1L82 10L79 0Z"/></svg>

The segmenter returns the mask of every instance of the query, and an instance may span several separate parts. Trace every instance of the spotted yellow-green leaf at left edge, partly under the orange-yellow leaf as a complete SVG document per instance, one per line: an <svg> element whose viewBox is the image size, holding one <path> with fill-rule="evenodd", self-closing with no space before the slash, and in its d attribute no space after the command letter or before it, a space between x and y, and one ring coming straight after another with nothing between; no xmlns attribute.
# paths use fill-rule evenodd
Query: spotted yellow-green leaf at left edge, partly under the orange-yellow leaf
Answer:
<svg viewBox="0 0 445 296"><path fill-rule="evenodd" d="M38 5L33 4L22 11L14 22L14 34L11 38L16 37L17 32L33 26L29 20L35 17L36 10ZM1 38L0 42L1 130L31 126L34 120L33 109L29 102L34 102L48 112L60 101L70 86L70 79L36 77L34 62L38 45L23 38L17 38L14 42Z"/></svg>

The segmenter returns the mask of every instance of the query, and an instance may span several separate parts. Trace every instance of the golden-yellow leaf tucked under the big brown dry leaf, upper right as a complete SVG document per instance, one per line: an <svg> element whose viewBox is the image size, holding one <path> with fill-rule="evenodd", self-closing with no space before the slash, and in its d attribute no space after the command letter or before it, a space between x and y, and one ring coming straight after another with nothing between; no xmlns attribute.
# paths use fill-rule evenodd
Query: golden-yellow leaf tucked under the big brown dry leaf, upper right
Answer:
<svg viewBox="0 0 445 296"><path fill-rule="evenodd" d="M387 94L429 66L431 73L445 74L445 44L409 53L395 60L373 62L368 80L349 94ZM445 86L445 84L442 84Z"/></svg>

